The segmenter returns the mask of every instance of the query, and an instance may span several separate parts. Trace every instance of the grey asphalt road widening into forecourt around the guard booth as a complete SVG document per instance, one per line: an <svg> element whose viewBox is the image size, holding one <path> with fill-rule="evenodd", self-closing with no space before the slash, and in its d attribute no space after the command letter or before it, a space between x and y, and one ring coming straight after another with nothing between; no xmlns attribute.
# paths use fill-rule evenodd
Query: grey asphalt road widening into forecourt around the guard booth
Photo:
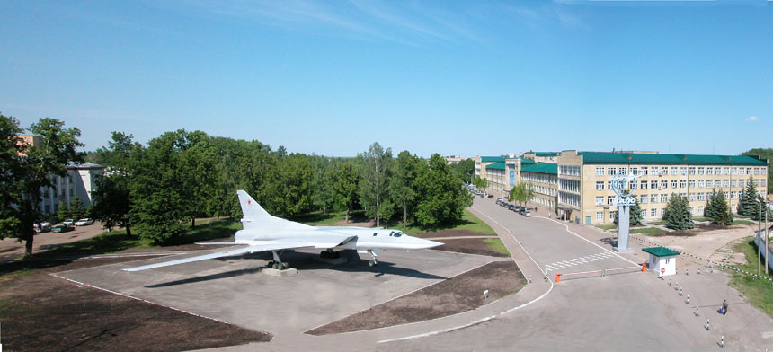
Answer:
<svg viewBox="0 0 773 352"><path fill-rule="evenodd" d="M600 241L603 234L588 242L568 233L564 224L514 214L496 206L493 199L475 198L474 207L485 215L481 217L498 233L502 229L496 228L497 224L511 230L542 268L562 262L573 265L558 267L556 271L576 272L631 265L591 243L611 249L609 243ZM608 254L603 258L589 257L604 252ZM624 257L635 262L645 258L638 248ZM576 260L579 258L599 259ZM673 279L674 283L681 281L684 295L679 295L679 291L669 286L667 280L638 270L627 270L605 278L590 275L562 279L549 295L535 304L493 321L427 338L389 342L378 349L702 351L719 348L717 343L722 336L724 349L773 349L773 321L744 303L733 289L726 286L724 273L681 275ZM685 295L691 295L691 304L685 303ZM733 303L733 313L726 316L714 312L723 298ZM704 305L699 316L693 313L693 305ZM711 330L704 328L706 319L711 320Z"/></svg>

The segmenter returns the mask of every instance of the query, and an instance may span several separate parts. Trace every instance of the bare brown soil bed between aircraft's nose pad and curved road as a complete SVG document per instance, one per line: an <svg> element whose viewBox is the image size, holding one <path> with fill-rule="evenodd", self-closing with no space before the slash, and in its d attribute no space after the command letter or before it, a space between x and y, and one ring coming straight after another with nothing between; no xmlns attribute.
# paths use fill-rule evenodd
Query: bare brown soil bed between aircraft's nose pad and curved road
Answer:
<svg viewBox="0 0 773 352"><path fill-rule="evenodd" d="M369 310L309 330L307 334L328 335L427 321L491 303L520 291L525 284L526 280L515 262L494 261L411 294L378 304ZM484 299L484 290L489 290L488 299Z"/></svg>

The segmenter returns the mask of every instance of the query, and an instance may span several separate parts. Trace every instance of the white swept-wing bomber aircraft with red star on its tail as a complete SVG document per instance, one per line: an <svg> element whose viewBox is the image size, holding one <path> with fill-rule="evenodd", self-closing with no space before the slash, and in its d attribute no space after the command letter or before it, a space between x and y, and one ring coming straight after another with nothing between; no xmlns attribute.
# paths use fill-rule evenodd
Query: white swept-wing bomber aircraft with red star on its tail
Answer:
<svg viewBox="0 0 773 352"><path fill-rule="evenodd" d="M378 265L378 251L387 250L421 250L442 245L441 242L412 237L396 230L368 227L310 226L300 224L276 216L271 216L258 205L244 190L237 190L239 204L242 206L243 229L235 234L235 242L206 242L199 244L243 244L245 247L218 251L198 257L182 260L164 261L136 268L125 268L124 271L139 271L148 268L161 268L170 265L190 263L191 261L209 260L220 257L231 257L256 251L271 251L273 268L288 268L286 262L280 260L277 251L317 248L324 249L323 258L335 258L335 250L357 250L358 253L369 253L372 260L370 266Z"/></svg>

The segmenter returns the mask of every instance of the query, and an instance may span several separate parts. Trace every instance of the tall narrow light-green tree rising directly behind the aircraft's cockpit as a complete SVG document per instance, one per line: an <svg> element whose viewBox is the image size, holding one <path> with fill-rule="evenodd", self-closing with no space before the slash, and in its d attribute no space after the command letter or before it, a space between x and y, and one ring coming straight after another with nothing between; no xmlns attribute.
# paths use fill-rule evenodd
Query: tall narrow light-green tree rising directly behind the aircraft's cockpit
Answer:
<svg viewBox="0 0 773 352"><path fill-rule="evenodd" d="M381 202L388 196L389 176L392 166L392 148L386 150L374 142L368 152L358 155L360 160L360 204L365 206L365 215L376 218L380 226Z"/></svg>

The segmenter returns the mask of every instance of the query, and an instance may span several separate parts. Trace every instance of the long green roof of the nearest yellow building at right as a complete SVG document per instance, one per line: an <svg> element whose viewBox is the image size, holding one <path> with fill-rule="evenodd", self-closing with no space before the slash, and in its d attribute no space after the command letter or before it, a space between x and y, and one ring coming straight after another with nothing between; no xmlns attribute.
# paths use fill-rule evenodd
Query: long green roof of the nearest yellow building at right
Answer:
<svg viewBox="0 0 773 352"><path fill-rule="evenodd" d="M669 163L694 165L759 165L766 166L764 160L746 155L696 155L696 154L637 154L609 152L579 152L582 163Z"/></svg>

